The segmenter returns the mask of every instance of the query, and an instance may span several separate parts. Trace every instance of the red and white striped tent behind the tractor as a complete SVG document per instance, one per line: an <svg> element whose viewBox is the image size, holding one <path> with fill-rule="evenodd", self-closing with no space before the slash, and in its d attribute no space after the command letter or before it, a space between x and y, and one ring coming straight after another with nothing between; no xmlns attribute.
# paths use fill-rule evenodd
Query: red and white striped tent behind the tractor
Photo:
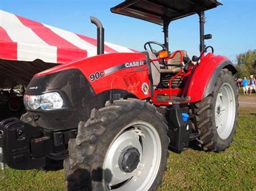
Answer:
<svg viewBox="0 0 256 191"><path fill-rule="evenodd" d="M105 53L137 52L105 42ZM97 40L0 10L0 87L26 85L57 64L97 54Z"/></svg>

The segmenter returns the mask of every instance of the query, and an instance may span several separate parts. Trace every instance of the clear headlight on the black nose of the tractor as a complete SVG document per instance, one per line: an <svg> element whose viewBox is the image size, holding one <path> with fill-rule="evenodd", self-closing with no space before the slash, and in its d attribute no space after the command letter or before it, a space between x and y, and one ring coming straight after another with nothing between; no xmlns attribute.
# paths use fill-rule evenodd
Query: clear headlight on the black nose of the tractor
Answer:
<svg viewBox="0 0 256 191"><path fill-rule="evenodd" d="M63 108L63 99L58 92L42 95L24 95L24 105L27 109L53 110Z"/></svg>

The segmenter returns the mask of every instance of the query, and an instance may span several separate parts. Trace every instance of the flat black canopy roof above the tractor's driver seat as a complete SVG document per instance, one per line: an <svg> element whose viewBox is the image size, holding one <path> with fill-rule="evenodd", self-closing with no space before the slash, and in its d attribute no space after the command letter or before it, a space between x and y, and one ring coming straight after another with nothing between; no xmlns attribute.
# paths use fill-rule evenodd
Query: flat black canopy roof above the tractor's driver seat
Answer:
<svg viewBox="0 0 256 191"><path fill-rule="evenodd" d="M222 5L216 0L126 0L112 12L163 25L171 21Z"/></svg>

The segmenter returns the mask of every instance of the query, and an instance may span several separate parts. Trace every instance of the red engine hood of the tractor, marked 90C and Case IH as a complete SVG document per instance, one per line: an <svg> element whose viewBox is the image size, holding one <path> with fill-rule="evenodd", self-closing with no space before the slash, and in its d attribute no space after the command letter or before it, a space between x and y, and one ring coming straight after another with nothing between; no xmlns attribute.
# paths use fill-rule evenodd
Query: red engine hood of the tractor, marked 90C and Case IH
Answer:
<svg viewBox="0 0 256 191"><path fill-rule="evenodd" d="M144 82L146 82L148 86L150 84L146 64L115 69L115 67L134 61L146 62L146 56L142 53L102 54L53 67L36 74L35 77L68 69L79 69L88 79L88 82L90 82L96 94L111 89L119 89L128 91L139 99L146 99L150 97L150 90L147 95L142 92L142 84ZM98 79L91 80L90 75L96 73L101 73L102 76Z"/></svg>

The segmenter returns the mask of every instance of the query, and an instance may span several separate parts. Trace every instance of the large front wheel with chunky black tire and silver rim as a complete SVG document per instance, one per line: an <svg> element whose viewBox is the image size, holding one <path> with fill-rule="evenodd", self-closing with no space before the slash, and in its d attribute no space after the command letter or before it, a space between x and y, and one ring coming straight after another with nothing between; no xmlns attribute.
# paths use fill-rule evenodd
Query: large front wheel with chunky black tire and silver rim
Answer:
<svg viewBox="0 0 256 191"><path fill-rule="evenodd" d="M142 100L116 100L93 109L69 141L64 160L68 191L155 191L168 157L167 125Z"/></svg>

